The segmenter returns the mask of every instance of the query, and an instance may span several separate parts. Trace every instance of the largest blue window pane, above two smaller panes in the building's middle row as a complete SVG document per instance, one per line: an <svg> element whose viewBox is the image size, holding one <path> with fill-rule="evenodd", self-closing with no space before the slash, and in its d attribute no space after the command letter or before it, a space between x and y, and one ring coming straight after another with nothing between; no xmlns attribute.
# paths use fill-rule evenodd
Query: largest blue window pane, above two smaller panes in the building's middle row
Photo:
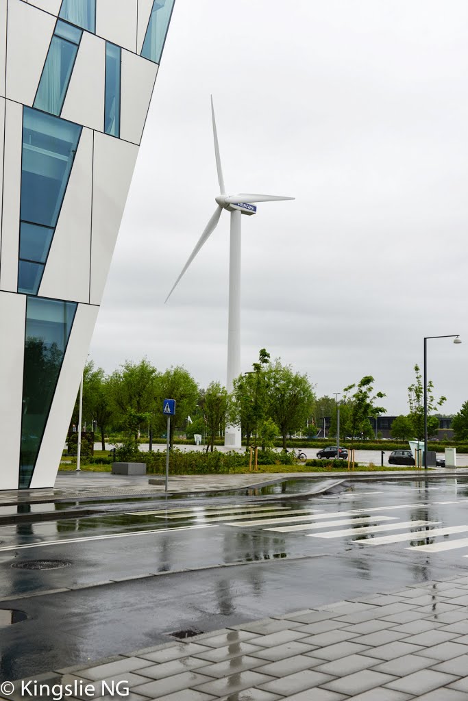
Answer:
<svg viewBox="0 0 468 701"><path fill-rule="evenodd" d="M23 109L21 214L54 227L67 189L81 126L30 107Z"/></svg>

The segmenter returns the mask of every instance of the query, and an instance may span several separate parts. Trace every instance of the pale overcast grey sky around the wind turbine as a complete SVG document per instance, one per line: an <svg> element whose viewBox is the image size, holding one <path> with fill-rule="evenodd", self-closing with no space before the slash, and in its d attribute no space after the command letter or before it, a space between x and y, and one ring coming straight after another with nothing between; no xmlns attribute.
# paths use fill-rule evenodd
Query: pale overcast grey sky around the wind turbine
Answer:
<svg viewBox="0 0 468 701"><path fill-rule="evenodd" d="M406 413L413 365L468 400L468 4L175 0L91 345L225 383L229 216L164 299L227 191L243 217L242 367L267 348L319 395L363 375Z"/></svg>

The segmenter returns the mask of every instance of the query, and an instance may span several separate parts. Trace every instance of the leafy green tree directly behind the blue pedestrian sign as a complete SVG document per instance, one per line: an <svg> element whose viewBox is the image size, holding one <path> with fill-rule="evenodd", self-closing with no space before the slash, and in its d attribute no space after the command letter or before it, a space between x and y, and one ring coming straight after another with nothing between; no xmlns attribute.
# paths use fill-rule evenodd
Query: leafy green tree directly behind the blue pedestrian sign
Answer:
<svg viewBox="0 0 468 701"><path fill-rule="evenodd" d="M199 399L199 386L192 375L184 368L177 365L171 367L156 378L155 383L156 422L161 430L166 430L166 416L162 413L163 401L175 399L175 415L171 416L171 434L169 442L173 447L175 426L182 426L196 407Z"/></svg>

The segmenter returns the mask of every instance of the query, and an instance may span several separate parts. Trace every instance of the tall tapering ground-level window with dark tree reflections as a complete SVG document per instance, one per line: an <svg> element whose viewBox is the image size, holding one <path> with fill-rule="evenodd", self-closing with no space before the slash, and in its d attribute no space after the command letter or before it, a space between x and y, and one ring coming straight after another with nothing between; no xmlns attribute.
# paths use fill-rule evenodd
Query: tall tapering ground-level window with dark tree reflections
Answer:
<svg viewBox="0 0 468 701"><path fill-rule="evenodd" d="M54 299L27 299L20 489L31 483L76 306Z"/></svg>

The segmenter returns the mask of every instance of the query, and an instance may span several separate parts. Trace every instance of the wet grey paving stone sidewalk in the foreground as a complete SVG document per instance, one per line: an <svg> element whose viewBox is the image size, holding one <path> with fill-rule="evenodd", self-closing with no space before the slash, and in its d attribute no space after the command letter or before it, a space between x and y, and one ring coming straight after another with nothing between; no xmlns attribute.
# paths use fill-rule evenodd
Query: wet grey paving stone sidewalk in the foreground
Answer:
<svg viewBox="0 0 468 701"><path fill-rule="evenodd" d="M106 701L119 696L102 693L102 681L128 683L128 701L467 701L467 605L468 576L457 576L273 613L34 679L90 683ZM20 682L15 689L8 699L24 699Z"/></svg>

